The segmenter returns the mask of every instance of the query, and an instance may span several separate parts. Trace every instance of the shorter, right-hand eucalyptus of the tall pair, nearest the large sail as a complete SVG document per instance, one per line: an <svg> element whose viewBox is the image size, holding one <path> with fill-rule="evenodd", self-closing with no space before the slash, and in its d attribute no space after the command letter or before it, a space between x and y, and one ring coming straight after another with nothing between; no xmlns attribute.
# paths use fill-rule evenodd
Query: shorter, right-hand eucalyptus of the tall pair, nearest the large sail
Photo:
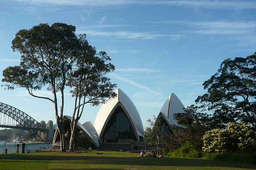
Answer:
<svg viewBox="0 0 256 170"><path fill-rule="evenodd" d="M112 84L110 78L106 77L106 74L115 69L114 65L109 63L110 60L106 52L97 53L95 47L88 44L85 34L80 35L75 66L67 82L67 85L73 88L70 92L75 98L74 112L70 123L69 151L74 151L76 125L84 111L85 104L90 103L97 106L106 102L107 97L116 96L113 92L116 84Z"/></svg>

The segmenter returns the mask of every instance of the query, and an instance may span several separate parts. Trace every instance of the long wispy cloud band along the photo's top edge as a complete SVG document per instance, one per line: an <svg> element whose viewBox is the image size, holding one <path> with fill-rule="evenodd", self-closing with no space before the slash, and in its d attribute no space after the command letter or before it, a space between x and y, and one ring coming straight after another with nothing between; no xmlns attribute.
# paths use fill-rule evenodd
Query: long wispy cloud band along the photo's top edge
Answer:
<svg viewBox="0 0 256 170"><path fill-rule="evenodd" d="M52 5L74 5L74 6L123 6L130 4L140 5L168 5L183 6L186 8L206 8L206 9L255 9L254 1L208 1L208 0L13 0L16 2L27 2L35 5L52 4Z"/></svg>

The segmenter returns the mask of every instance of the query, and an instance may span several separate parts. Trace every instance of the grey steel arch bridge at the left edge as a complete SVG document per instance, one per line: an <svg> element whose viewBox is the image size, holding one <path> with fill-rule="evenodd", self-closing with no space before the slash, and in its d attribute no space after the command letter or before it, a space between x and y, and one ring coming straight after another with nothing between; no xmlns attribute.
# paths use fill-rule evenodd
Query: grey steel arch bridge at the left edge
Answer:
<svg viewBox="0 0 256 170"><path fill-rule="evenodd" d="M44 141L40 133L48 131L42 124L23 111L0 102L0 127L23 129L38 141Z"/></svg>

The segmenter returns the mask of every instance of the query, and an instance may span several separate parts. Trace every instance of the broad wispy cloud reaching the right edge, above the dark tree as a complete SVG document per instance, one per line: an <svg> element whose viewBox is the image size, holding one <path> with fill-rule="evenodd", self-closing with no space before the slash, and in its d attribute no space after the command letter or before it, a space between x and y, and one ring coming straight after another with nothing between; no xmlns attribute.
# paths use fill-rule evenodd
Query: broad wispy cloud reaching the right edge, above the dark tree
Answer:
<svg viewBox="0 0 256 170"><path fill-rule="evenodd" d="M256 21L158 21L152 23L162 24L182 24L188 25L187 30L182 33L192 33L195 35L227 35L228 40L237 41L236 45L255 45L256 42ZM219 37L226 39L226 37ZM216 42L216 41L214 41ZM235 43L233 43L234 45Z"/></svg>

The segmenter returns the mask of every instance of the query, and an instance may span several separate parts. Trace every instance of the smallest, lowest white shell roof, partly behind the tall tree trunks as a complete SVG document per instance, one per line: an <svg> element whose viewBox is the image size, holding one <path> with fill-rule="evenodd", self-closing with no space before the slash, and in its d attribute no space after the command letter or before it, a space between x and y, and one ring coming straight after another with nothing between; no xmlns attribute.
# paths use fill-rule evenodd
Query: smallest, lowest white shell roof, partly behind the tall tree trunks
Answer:
<svg viewBox="0 0 256 170"><path fill-rule="evenodd" d="M71 116L64 116L67 119L69 119L69 121L71 121L72 117ZM92 122L88 121L86 123L84 123L83 125L80 122L77 122L77 127L78 129L80 129L80 131L82 131L83 133L85 133L90 140L92 141L92 143L98 148L100 147L99 144L99 136L98 133L96 132L94 126L92 125Z"/></svg>

